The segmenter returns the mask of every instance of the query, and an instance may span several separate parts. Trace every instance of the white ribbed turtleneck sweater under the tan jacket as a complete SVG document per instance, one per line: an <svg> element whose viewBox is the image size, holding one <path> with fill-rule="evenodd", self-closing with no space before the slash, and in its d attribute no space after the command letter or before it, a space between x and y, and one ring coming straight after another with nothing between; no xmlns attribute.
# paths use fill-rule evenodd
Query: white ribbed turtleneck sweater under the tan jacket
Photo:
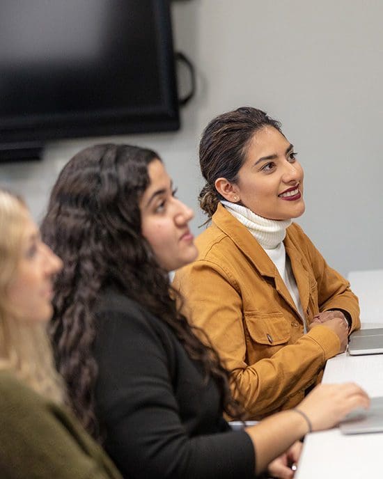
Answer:
<svg viewBox="0 0 383 479"><path fill-rule="evenodd" d="M306 321L304 320L297 282L295 281L294 274L292 274L290 259L286 256L285 245L283 244L283 239L286 237L286 228L290 226L292 220L267 219L258 216L258 214L245 206L237 205L237 203L230 203L230 201L221 201L221 203L228 212L233 214L233 217L246 226L251 235L263 247L267 256L276 266L276 269L278 269L281 278L286 284L286 288L290 292L292 301L294 301L299 315L302 317L304 332L306 333Z"/></svg>

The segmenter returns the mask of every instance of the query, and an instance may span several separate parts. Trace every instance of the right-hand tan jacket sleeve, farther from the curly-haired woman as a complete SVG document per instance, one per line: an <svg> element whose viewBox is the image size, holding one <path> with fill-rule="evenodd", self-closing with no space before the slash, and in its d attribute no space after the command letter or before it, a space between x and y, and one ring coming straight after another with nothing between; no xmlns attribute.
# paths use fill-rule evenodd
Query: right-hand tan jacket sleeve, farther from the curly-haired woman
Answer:
<svg viewBox="0 0 383 479"><path fill-rule="evenodd" d="M311 239L302 231L302 228L295 224L299 235L302 235L306 248L306 255L310 259L311 267L318 284L318 306L319 311L344 310L350 314L352 324L350 331L359 329L359 301L350 289L350 283L341 276L335 269L327 265L318 249L315 248Z"/></svg>

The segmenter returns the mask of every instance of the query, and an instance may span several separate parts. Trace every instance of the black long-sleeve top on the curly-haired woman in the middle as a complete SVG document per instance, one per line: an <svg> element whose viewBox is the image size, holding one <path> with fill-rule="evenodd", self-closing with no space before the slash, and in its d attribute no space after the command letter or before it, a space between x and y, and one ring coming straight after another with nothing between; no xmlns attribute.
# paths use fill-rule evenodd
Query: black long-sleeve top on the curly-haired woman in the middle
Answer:
<svg viewBox="0 0 383 479"><path fill-rule="evenodd" d="M96 318L97 414L124 478L253 478L251 439L230 430L216 384L172 329L112 290Z"/></svg>

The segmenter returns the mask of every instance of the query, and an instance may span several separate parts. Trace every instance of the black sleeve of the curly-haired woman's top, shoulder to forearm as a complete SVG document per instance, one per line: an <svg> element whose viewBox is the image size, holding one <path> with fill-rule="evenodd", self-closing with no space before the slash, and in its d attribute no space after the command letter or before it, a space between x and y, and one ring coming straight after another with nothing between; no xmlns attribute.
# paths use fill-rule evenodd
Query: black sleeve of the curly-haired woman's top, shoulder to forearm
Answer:
<svg viewBox="0 0 383 479"><path fill-rule="evenodd" d="M107 320L100 322L95 346L96 398L107 450L123 476L252 478L253 445L244 431L187 436L171 382L169 345L149 318L139 311L97 313L102 316Z"/></svg>

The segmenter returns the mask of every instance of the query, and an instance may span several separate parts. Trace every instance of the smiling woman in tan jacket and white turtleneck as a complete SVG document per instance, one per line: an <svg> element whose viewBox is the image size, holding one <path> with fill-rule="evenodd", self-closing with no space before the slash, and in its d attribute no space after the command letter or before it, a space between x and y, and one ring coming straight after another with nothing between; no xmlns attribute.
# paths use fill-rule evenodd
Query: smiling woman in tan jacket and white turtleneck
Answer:
<svg viewBox="0 0 383 479"><path fill-rule="evenodd" d="M304 175L279 122L250 107L214 118L200 164L212 223L173 285L230 370L235 398L259 419L295 407L345 350L358 300L292 223L304 212Z"/></svg>

